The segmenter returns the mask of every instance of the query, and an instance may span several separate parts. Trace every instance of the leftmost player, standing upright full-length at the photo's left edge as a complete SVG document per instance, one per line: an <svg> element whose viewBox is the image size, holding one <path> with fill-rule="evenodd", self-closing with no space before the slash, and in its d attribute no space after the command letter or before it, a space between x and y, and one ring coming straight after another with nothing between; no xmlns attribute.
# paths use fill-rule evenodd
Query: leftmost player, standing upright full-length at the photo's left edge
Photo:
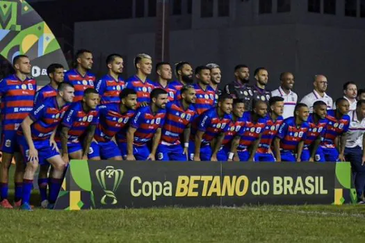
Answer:
<svg viewBox="0 0 365 243"><path fill-rule="evenodd" d="M19 55L13 60L15 74L0 81L1 97L1 183L0 206L13 208L8 201L8 175L13 156L15 158L15 206L20 206L22 199L22 182L24 174L23 158L17 146L17 129L23 119L33 110L35 90L31 74L31 61L28 56Z"/></svg>

